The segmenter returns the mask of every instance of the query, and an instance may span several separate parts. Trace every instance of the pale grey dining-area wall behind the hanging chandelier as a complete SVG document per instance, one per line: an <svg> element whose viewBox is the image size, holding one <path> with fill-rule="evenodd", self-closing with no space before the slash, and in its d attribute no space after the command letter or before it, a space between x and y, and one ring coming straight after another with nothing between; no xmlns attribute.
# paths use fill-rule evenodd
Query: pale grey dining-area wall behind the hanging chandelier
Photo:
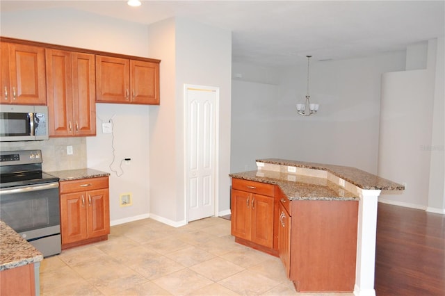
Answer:
<svg viewBox="0 0 445 296"><path fill-rule="evenodd" d="M243 131L244 135L232 138L232 159L237 160L232 162L232 172L255 158L277 157L349 165L376 174L380 75L404 67L404 52L325 62L312 58L309 94L320 110L310 117L296 113L296 104L305 99L307 65L270 69L279 81L268 79L269 73L264 71L257 81L277 85L268 86L270 91L263 94L252 92L252 84L238 83L244 76L236 79L232 132ZM244 73L241 65L236 66L236 73ZM245 79L252 81L253 76L245 73ZM248 123L249 131L246 120L255 117L257 120Z"/></svg>

